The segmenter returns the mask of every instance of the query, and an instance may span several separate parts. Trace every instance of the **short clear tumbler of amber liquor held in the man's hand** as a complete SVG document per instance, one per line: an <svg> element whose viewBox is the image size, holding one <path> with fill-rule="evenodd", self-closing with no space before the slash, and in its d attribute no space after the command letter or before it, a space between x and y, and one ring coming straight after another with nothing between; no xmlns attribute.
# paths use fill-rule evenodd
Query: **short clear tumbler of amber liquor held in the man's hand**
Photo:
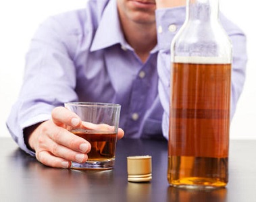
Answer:
<svg viewBox="0 0 256 202"><path fill-rule="evenodd" d="M65 107L80 116L82 125L70 132L91 144L85 163L72 162L74 169L113 169L120 119L120 104L68 102Z"/></svg>

